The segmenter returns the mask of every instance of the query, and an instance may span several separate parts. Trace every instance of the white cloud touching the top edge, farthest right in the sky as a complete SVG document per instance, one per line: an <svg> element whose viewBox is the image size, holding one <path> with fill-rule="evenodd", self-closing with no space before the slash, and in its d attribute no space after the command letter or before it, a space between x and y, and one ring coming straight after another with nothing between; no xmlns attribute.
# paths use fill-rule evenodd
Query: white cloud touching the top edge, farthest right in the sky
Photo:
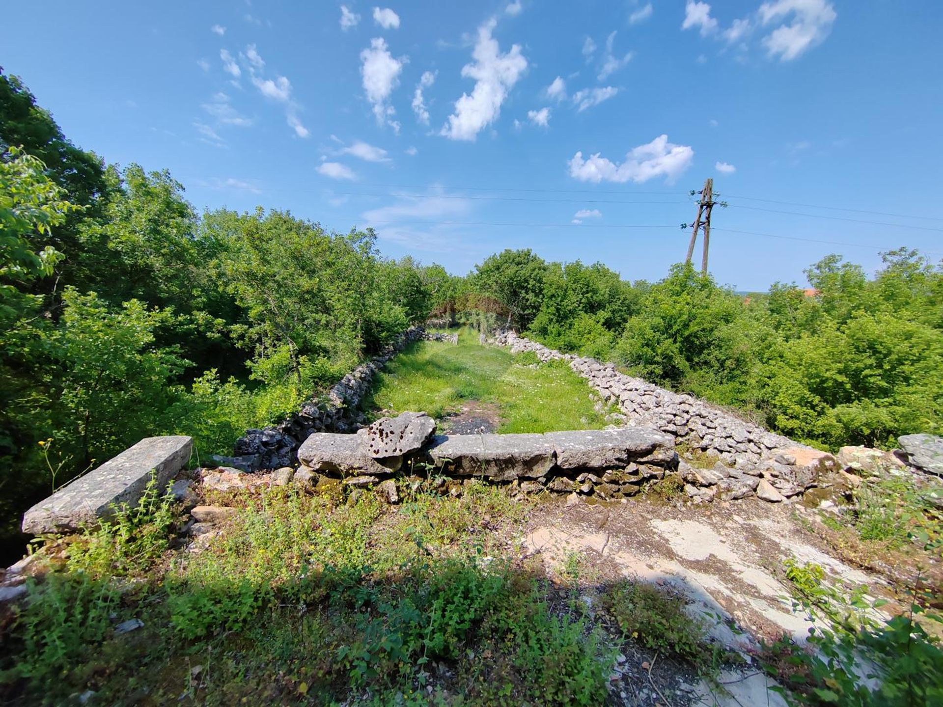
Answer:
<svg viewBox="0 0 943 707"><path fill-rule="evenodd" d="M769 57L780 61L799 57L824 41L832 31L837 14L827 0L774 0L759 9L760 22L769 25L792 15L791 25L780 25L763 39Z"/></svg>

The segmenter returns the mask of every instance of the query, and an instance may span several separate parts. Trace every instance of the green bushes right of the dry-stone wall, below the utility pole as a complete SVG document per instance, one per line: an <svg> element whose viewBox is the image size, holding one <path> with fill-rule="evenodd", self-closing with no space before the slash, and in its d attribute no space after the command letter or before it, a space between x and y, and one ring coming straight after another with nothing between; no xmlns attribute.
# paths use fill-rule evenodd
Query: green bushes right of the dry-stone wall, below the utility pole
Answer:
<svg viewBox="0 0 943 707"><path fill-rule="evenodd" d="M689 266L630 284L600 263L505 251L455 278L439 308L496 313L801 441L891 448L943 432L943 266L905 248L884 262L869 279L829 255L805 271L811 290L778 283L744 298Z"/></svg>

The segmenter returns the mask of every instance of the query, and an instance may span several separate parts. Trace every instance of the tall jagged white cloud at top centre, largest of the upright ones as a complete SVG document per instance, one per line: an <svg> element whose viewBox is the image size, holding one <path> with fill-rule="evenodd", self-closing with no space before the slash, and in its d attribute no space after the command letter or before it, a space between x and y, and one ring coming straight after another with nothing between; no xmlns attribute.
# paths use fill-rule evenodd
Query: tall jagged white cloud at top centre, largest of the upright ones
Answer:
<svg viewBox="0 0 943 707"><path fill-rule="evenodd" d="M513 44L502 54L498 41L491 37L497 22L489 20L478 27L478 41L472 58L474 62L462 67L462 76L475 80L472 95L462 93L455 101L455 112L442 126L441 135L450 140L474 140L478 132L493 123L501 114L507 91L527 69L527 59L521 47Z"/></svg>

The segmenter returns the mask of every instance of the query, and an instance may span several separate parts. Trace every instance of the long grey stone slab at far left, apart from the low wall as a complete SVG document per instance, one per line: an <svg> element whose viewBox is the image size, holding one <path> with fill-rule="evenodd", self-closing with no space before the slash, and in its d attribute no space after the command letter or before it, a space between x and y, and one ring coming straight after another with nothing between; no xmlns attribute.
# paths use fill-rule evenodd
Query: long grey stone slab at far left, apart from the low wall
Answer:
<svg viewBox="0 0 943 707"><path fill-rule="evenodd" d="M141 439L26 511L23 532L72 533L99 518L110 518L114 506L136 506L155 478L163 493L174 475L187 466L192 446L188 436Z"/></svg>

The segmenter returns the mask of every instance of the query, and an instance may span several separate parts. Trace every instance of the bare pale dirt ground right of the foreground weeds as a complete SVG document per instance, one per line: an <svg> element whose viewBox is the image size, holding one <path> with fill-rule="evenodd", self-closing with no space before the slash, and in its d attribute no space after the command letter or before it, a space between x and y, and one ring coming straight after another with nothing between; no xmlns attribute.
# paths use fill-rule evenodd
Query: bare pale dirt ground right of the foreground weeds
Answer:
<svg viewBox="0 0 943 707"><path fill-rule="evenodd" d="M812 625L792 610L777 570L786 559L814 562L836 579L875 587L882 584L835 559L821 540L802 524L810 512L798 504L758 499L711 505L656 504L645 499L608 504L566 505L550 499L531 514L521 546L553 571L575 552L583 571L587 602L593 586L632 577L673 589L687 597L687 610L703 617L710 635L743 659L741 669L708 685L656 656L628 656L622 664L625 684L657 685L649 695L622 691L625 704L785 705L773 682L755 665L760 639L783 633L802 641ZM633 675L633 662L651 667ZM637 670L635 672L638 672ZM660 692L659 692L660 691Z"/></svg>

